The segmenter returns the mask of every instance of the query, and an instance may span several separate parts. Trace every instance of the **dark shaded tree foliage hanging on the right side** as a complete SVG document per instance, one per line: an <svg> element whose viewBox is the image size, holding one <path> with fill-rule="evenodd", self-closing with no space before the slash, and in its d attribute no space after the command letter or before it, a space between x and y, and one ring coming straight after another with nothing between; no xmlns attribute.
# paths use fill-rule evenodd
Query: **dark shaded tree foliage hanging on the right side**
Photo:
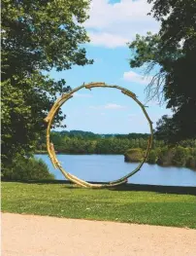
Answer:
<svg viewBox="0 0 196 256"><path fill-rule="evenodd" d="M129 44L131 67L146 67L153 78L147 87L149 98L163 96L172 118L163 117L159 131L169 132L172 143L196 138L196 1L148 0L149 15L161 23L157 34L136 36ZM159 123L159 125L161 125ZM157 135L159 132L157 132Z"/></svg>

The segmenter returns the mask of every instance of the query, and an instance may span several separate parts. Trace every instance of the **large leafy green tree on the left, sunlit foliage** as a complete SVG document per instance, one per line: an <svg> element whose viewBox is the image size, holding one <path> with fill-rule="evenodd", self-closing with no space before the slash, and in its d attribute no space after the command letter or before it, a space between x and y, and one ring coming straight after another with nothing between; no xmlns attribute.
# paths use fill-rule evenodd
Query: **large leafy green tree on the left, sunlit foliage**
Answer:
<svg viewBox="0 0 196 256"><path fill-rule="evenodd" d="M82 44L88 0L2 1L2 155L26 155L46 128L56 95L70 90L46 71L92 63ZM61 111L54 123L60 126Z"/></svg>

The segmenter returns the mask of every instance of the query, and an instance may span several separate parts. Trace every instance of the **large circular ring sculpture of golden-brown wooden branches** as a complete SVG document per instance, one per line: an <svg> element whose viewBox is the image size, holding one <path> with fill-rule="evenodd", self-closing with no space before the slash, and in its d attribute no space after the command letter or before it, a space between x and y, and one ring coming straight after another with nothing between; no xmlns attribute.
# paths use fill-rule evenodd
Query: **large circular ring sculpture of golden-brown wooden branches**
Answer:
<svg viewBox="0 0 196 256"><path fill-rule="evenodd" d="M145 114L146 118L147 118L147 122L148 122L148 125L149 125L149 129L150 129L150 135L149 135L149 138L148 138L148 143L147 143L147 150L146 150L146 153L145 153L145 156L142 160L142 162L134 169L132 170L130 173L128 173L127 175L117 179L117 180L114 180L114 181L111 181L111 182L108 182L108 183L104 183L104 184L100 184L100 183L89 183L89 182L86 182L78 177L76 177L75 175L67 172L61 165L60 163L58 162L57 158L56 158L56 155L55 155L55 151L54 151L54 147L53 147L53 144L50 143L50 140L49 140L49 133L50 133L50 127L51 127L51 123L52 123L52 120L56 114L56 112L58 111L58 109L63 105L63 103L65 103L68 99L70 99L71 97L73 97L73 93L75 93L76 91L80 91L81 89L88 89L88 90L91 90L92 88L114 88L114 89L117 89L119 91L121 91L123 94L126 94L128 95L129 97L131 97L136 103L138 103L138 105L141 107L141 109L143 110L143 113ZM62 172L62 174L65 176L66 179L70 180L71 182L81 186L81 187L84 187L84 188L107 188L107 187L114 187L114 186L118 186L118 185L121 185L121 184L124 184L127 182L127 179L129 177L131 177L132 175L134 175L136 172L138 172L142 165L144 165L144 163L146 162L147 160L147 156L150 152L150 149L151 149L151 145L152 145L152 138L153 138L153 131L152 131L152 122L150 121L148 115L147 115L147 111L146 111L146 108L147 106L144 106L138 99L137 99L137 96L135 93L133 93L132 91L128 91L127 89L124 89L124 88L121 88L121 87L118 87L118 86L110 86L110 85L107 85L105 83L101 83L101 82L96 82L96 83L89 83L89 84L83 84L81 87L78 87L77 89L74 89L73 91L70 91L68 93L65 93L65 94L62 94L61 97L59 97L56 102L53 104L53 106L51 107L50 111L49 111L49 114L47 116L47 118L45 119L45 122L48 123L48 128L47 128L47 149L48 149L48 152L49 152L49 158L51 160L51 163L52 165L55 167L55 168L59 168L59 170Z"/></svg>

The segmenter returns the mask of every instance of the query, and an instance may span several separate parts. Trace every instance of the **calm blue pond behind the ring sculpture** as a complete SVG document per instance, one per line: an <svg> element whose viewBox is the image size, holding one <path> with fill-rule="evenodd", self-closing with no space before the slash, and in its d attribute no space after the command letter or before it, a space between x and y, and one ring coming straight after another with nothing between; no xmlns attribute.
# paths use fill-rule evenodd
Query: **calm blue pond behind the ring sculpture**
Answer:
<svg viewBox="0 0 196 256"><path fill-rule="evenodd" d="M35 155L42 159L55 179L64 180L60 170L55 169L48 155ZM122 155L57 155L61 165L70 173L86 181L106 182L118 179L138 164L125 163ZM128 183L196 187L196 171L185 167L143 165Z"/></svg>

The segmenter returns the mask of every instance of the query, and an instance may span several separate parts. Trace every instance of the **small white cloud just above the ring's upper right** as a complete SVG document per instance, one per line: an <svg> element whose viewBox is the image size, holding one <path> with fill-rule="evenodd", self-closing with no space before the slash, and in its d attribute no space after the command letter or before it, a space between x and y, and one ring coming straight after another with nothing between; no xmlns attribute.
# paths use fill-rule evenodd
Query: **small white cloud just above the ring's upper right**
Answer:
<svg viewBox="0 0 196 256"><path fill-rule="evenodd" d="M128 72L124 72L123 79L128 82L147 85L150 83L152 77L151 76L144 77L136 72L128 71Z"/></svg>

